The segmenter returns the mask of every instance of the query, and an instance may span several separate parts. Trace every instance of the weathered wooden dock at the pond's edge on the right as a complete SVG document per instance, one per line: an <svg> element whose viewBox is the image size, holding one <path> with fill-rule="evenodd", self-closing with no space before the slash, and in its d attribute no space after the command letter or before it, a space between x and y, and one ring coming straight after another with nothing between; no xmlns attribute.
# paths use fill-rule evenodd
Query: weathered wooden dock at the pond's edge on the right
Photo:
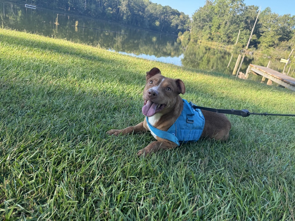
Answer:
<svg viewBox="0 0 295 221"><path fill-rule="evenodd" d="M246 78L248 78L250 71L254 75L261 75L275 83L278 83L279 85L284 86L285 88L289 88L290 90L295 91L295 78L293 77L284 75L269 67L250 64L245 74Z"/></svg>

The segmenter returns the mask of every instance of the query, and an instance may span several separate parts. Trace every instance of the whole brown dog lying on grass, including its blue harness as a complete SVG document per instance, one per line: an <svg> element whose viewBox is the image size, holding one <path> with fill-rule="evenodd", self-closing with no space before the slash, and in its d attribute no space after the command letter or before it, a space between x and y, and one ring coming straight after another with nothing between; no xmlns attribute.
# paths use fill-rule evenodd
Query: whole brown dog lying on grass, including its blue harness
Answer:
<svg viewBox="0 0 295 221"><path fill-rule="evenodd" d="M107 134L118 136L150 131L157 141L138 151L137 156L147 156L204 137L227 140L230 121L222 113L190 108L192 104L180 97L186 91L182 80L164 77L156 67L146 72L145 78L142 107L142 113L146 116L144 121L122 130L107 131Z"/></svg>

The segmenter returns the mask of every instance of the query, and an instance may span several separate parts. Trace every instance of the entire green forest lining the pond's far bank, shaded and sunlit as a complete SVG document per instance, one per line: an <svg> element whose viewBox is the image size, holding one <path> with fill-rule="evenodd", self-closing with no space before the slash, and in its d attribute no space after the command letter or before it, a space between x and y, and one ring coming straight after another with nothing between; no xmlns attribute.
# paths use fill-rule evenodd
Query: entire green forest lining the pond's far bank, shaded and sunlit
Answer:
<svg viewBox="0 0 295 221"><path fill-rule="evenodd" d="M246 5L244 0L207 0L192 18L149 0L18 0L47 9L114 21L179 37L189 42L216 42L245 48L256 17L248 52L280 57L295 47L295 16L279 15L268 7Z"/></svg>

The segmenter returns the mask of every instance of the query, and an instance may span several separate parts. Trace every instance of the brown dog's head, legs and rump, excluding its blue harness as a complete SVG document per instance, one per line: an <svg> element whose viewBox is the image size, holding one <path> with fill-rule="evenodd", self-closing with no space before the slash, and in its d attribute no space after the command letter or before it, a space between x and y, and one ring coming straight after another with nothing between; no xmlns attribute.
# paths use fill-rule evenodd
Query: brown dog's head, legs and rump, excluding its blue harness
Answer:
<svg viewBox="0 0 295 221"><path fill-rule="evenodd" d="M147 117L136 126L122 130L110 130L107 132L109 135L118 136L119 134L151 131L149 124L159 130L167 131L178 120L184 108L184 102L179 96L179 94L185 93L184 83L180 79L164 77L156 67L147 72L145 78L146 85L143 90L144 106L142 113ZM222 141L228 138L231 124L224 114L207 110L202 110L200 114L203 114L205 119L200 137L209 137ZM178 146L171 140L160 138L153 131L151 133L157 141L138 151L137 156L146 156L160 149L170 149Z"/></svg>

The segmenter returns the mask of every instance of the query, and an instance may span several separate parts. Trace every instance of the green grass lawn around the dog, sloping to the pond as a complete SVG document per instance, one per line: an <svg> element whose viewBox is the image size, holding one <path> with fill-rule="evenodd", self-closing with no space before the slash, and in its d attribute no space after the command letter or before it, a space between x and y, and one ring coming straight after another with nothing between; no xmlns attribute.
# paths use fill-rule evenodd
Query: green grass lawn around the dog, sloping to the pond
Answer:
<svg viewBox="0 0 295 221"><path fill-rule="evenodd" d="M137 158L145 72L213 108L295 113L295 93L0 29L0 220L294 220L295 118L228 116L202 139Z"/></svg>

